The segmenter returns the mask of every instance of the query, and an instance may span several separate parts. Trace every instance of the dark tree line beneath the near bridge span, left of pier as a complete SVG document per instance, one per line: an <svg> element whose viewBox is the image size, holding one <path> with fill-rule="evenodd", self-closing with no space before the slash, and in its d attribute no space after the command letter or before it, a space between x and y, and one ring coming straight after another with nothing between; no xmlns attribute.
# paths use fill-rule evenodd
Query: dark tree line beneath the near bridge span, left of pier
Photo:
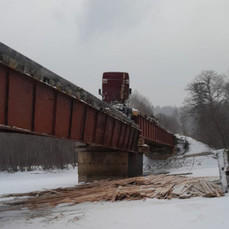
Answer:
<svg viewBox="0 0 229 229"><path fill-rule="evenodd" d="M63 169L77 163L76 144L67 140L0 133L0 171Z"/></svg>

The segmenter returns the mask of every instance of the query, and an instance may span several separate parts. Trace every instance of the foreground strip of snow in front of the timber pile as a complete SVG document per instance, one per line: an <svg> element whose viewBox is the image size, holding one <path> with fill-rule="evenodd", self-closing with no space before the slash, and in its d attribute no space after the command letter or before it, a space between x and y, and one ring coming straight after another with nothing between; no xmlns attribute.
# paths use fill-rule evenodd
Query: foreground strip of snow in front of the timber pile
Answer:
<svg viewBox="0 0 229 229"><path fill-rule="evenodd" d="M84 203L54 210L1 212L1 229L218 229L229 223L229 196Z"/></svg>

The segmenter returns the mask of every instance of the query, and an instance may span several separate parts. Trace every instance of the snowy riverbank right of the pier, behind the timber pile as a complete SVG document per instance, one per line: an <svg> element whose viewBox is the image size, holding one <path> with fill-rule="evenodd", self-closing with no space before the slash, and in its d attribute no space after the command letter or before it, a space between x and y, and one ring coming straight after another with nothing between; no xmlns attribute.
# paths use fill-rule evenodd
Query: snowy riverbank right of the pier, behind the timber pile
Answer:
<svg viewBox="0 0 229 229"><path fill-rule="evenodd" d="M220 150L213 150L202 142L198 142L193 138L178 136L179 138L186 138L189 142L188 151L184 152L182 145L180 147L180 154L168 158L166 160L155 160L144 156L144 173L169 173L169 174L183 174L189 173L190 176L214 176L219 177L219 168L217 153Z"/></svg>

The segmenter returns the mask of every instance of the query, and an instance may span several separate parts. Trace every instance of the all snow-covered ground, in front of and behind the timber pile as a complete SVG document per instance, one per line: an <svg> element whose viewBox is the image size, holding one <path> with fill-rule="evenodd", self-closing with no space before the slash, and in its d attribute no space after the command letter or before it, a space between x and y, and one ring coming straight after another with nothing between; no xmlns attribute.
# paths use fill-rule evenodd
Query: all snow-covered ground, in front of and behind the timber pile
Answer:
<svg viewBox="0 0 229 229"><path fill-rule="evenodd" d="M216 151L190 141L187 155L197 156L163 161L144 158L144 172L191 173L191 176L219 177ZM211 154L204 155L203 152ZM199 156L201 155L201 156ZM0 193L26 192L77 184L77 170L0 173ZM4 199L2 199L3 201ZM0 199L1 201L1 199ZM221 198L192 198L187 200L121 201L59 205L54 209L1 210L0 228L224 228L229 224L229 195Z"/></svg>

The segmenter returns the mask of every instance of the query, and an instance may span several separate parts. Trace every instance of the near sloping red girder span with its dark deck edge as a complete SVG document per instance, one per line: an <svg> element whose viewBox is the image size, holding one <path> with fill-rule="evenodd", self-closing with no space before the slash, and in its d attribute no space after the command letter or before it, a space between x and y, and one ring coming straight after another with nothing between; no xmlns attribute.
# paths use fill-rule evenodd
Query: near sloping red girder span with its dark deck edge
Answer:
<svg viewBox="0 0 229 229"><path fill-rule="evenodd" d="M121 112L2 43L0 130L129 152L140 133Z"/></svg>

